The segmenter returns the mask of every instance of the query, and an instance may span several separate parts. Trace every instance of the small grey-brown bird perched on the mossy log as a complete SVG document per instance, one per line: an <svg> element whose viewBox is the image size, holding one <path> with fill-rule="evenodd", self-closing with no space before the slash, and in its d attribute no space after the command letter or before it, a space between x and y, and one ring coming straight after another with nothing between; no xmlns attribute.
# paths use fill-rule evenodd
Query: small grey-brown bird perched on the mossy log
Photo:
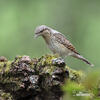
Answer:
<svg viewBox="0 0 100 100"><path fill-rule="evenodd" d="M94 66L86 58L80 55L80 53L77 52L73 44L61 32L56 31L55 29L52 29L46 25L40 25L36 27L34 37L37 38L39 36L43 37L53 54L57 54L62 58L72 56L84 61L90 66Z"/></svg>

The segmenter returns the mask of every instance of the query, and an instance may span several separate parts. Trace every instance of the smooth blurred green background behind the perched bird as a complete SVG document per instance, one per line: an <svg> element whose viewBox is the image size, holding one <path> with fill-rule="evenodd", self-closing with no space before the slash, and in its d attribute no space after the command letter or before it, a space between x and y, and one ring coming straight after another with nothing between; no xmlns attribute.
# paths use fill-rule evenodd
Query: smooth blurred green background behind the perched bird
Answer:
<svg viewBox="0 0 100 100"><path fill-rule="evenodd" d="M40 37L34 39L36 26L45 24L63 34L84 57L100 65L100 0L0 0L0 56L41 57L51 53ZM68 57L74 69L89 68Z"/></svg>

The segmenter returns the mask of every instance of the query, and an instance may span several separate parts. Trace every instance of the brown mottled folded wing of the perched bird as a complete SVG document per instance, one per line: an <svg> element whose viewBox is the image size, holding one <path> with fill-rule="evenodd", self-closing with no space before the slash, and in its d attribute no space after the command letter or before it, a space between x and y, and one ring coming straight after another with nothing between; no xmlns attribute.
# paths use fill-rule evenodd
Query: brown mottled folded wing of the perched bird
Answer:
<svg viewBox="0 0 100 100"><path fill-rule="evenodd" d="M63 44L66 48L68 48L69 50L71 50L72 52L79 54L75 47L70 43L70 41L68 41L65 36L61 33L55 33L53 34L55 40L61 44Z"/></svg>

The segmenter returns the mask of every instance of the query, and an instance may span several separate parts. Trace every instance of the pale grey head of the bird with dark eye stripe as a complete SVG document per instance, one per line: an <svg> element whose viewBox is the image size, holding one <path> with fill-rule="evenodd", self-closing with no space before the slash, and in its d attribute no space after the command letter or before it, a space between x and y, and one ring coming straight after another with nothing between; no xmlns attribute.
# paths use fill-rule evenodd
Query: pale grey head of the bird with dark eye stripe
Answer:
<svg viewBox="0 0 100 100"><path fill-rule="evenodd" d="M36 38L38 36L43 36L46 34L50 34L49 27L47 27L46 25L41 25L41 26L36 27L34 37Z"/></svg>

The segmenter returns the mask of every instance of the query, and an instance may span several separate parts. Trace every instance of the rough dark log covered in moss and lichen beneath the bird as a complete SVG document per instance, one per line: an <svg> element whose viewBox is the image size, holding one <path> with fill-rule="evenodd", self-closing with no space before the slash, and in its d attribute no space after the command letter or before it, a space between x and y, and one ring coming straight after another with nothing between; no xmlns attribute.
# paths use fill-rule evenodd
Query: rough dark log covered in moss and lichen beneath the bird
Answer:
<svg viewBox="0 0 100 100"><path fill-rule="evenodd" d="M65 80L78 82L80 77L57 56L0 57L0 100L61 100Z"/></svg>

